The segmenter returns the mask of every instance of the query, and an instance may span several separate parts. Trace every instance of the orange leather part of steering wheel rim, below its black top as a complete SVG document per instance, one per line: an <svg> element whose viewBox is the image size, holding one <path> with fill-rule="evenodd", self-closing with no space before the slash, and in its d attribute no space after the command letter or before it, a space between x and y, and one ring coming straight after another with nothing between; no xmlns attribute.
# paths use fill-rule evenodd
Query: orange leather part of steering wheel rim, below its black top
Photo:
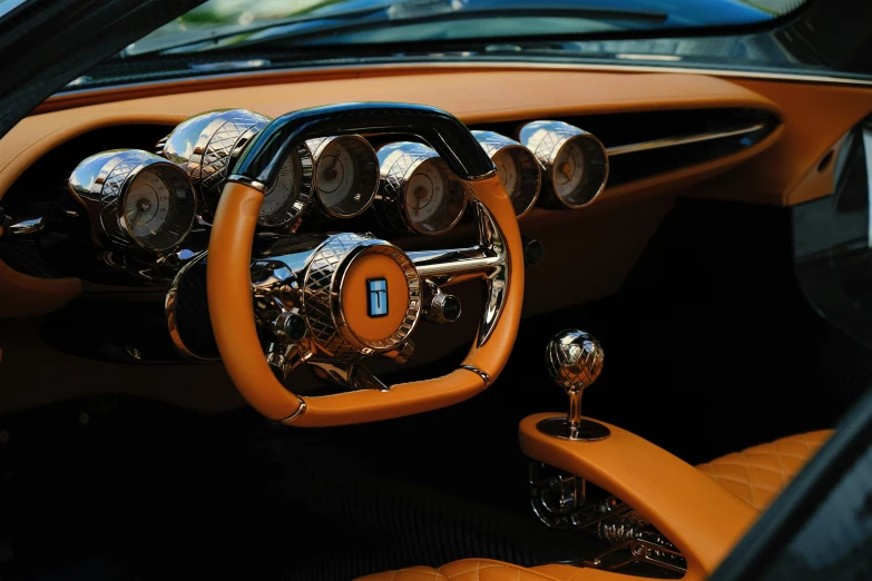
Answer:
<svg viewBox="0 0 872 581"><path fill-rule="evenodd" d="M521 318L521 235L499 177L467 185L491 211L508 246L509 284L502 314L489 341L481 348L473 346L463 362L493 380L509 358ZM444 377L393 385L389 392L357 391L300 398L288 392L263 357L251 308L252 239L262 204L263 194L254 188L233 183L225 186L210 236L207 269L215 339L227 373L252 406L267 417L287 420L293 425L344 425L435 410L487 387L479 374L460 368Z"/></svg>

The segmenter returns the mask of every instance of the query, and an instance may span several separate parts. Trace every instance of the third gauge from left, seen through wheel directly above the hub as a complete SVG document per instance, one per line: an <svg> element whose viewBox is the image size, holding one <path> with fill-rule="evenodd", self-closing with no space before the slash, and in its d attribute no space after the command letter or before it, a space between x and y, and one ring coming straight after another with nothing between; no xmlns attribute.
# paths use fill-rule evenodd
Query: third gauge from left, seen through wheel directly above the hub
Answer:
<svg viewBox="0 0 872 581"><path fill-rule="evenodd" d="M314 164L319 206L330 217L352 218L366 210L379 189L379 159L356 135L306 141Z"/></svg>

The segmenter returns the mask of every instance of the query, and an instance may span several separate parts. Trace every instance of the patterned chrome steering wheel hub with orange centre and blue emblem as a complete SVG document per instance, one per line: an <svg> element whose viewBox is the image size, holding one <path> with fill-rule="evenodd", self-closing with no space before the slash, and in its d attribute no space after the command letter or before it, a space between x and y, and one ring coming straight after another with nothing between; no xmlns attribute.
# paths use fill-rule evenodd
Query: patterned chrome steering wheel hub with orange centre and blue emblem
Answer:
<svg viewBox="0 0 872 581"><path fill-rule="evenodd" d="M402 345L421 314L421 279L389 242L336 234L319 247L303 277L312 339L332 357L372 355Z"/></svg>

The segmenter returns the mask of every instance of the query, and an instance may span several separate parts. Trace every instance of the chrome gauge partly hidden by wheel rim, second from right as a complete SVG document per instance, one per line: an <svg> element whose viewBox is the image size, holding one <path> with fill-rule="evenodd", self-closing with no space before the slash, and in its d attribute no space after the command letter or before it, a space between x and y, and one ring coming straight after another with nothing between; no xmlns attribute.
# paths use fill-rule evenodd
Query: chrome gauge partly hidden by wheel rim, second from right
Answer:
<svg viewBox="0 0 872 581"><path fill-rule="evenodd" d="M500 134L472 131L472 135L497 167L497 175L509 194L515 215L520 218L539 198L542 183L539 161L532 151Z"/></svg>

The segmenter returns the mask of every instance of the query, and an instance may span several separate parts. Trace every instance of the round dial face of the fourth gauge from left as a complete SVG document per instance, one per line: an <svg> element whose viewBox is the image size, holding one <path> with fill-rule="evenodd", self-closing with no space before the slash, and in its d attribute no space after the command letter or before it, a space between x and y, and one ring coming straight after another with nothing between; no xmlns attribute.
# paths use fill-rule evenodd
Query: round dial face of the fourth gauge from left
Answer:
<svg viewBox="0 0 872 581"><path fill-rule="evenodd" d="M427 159L412 171L404 198L405 215L422 234L448 230L466 208L463 188L439 158Z"/></svg>

